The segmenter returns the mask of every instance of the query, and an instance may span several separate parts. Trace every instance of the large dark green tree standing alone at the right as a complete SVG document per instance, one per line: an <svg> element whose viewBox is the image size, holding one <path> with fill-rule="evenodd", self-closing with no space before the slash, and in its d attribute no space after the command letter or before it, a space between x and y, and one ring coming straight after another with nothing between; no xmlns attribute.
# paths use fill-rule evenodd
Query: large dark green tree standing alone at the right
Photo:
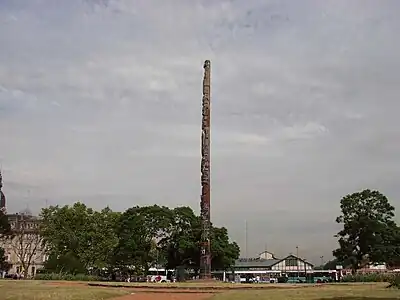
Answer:
<svg viewBox="0 0 400 300"><path fill-rule="evenodd" d="M336 222L343 224L343 229L336 235L339 248L333 255L349 261L353 272L366 262L388 262L398 253L394 207L383 194L368 189L353 193L341 199L340 208L342 214Z"/></svg>

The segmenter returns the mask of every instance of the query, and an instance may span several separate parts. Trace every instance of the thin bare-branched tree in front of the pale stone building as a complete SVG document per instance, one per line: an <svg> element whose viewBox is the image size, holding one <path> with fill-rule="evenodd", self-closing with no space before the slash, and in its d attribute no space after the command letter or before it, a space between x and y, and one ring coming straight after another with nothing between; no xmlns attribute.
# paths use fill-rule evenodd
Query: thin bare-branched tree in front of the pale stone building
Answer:
<svg viewBox="0 0 400 300"><path fill-rule="evenodd" d="M41 242L38 220L30 215L17 215L8 243L22 266L25 278L28 276L29 267L41 259Z"/></svg>

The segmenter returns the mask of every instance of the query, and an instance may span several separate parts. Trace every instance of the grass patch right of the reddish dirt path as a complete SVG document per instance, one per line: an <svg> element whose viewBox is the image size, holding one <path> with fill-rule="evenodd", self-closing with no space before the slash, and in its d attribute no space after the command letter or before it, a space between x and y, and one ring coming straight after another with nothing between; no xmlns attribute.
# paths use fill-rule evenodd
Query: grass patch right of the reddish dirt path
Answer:
<svg viewBox="0 0 400 300"><path fill-rule="evenodd" d="M332 284L292 289L232 291L215 295L212 300L394 300L400 290L383 284Z"/></svg>

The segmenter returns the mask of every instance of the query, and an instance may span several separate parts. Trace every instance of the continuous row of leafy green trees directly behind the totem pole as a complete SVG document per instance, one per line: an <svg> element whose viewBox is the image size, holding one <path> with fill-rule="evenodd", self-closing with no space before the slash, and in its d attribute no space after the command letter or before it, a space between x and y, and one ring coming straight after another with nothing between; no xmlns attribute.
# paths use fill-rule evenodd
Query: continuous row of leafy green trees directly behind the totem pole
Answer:
<svg viewBox="0 0 400 300"><path fill-rule="evenodd" d="M82 203L52 206L41 213L46 268L81 273L119 269L144 274L151 267L200 268L200 217L190 207L134 206L123 213L95 211ZM212 265L230 268L239 246L228 230L212 226Z"/></svg>

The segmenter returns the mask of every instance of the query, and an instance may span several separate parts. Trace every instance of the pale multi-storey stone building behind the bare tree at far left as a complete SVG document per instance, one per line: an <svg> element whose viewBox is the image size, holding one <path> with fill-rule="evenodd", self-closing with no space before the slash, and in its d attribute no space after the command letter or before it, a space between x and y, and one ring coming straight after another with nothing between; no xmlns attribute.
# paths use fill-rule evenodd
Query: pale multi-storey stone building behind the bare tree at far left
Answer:
<svg viewBox="0 0 400 300"><path fill-rule="evenodd" d="M0 174L0 187L2 187L1 179ZM39 219L29 211L7 214L3 192L1 197L0 209L6 214L13 234L12 238L0 239L0 247L5 250L6 261L9 264L9 270L6 271L10 274L34 276L47 259L39 235Z"/></svg>

